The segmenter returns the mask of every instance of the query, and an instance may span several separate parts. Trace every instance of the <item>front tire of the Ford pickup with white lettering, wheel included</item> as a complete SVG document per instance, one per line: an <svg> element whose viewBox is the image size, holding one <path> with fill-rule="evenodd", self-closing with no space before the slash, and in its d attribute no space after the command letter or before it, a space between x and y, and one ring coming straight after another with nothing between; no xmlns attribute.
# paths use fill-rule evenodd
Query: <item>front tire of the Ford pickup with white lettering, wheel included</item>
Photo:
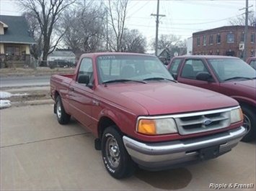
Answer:
<svg viewBox="0 0 256 191"><path fill-rule="evenodd" d="M136 171L136 164L125 149L117 126L105 129L102 135L102 159L107 172L116 179L131 176Z"/></svg>

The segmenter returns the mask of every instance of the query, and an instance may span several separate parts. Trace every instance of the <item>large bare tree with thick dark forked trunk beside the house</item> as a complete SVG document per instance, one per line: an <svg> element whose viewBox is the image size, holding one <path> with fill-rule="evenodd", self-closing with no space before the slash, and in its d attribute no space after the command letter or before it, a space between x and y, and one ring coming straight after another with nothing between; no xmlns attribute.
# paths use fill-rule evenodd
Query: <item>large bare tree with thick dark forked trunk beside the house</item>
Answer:
<svg viewBox="0 0 256 191"><path fill-rule="evenodd" d="M58 45L61 36L56 39L56 42L51 46L51 38L54 32L56 22L61 17L61 13L75 0L23 0L17 1L26 12L30 12L40 26L43 35L43 60L47 60L48 55Z"/></svg>

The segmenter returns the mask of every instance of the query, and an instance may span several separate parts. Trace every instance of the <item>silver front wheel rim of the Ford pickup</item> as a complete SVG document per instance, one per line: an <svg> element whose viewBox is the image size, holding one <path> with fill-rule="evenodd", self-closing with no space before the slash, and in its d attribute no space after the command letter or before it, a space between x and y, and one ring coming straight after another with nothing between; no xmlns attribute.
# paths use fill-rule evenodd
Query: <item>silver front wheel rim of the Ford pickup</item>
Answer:
<svg viewBox="0 0 256 191"><path fill-rule="evenodd" d="M120 164L120 150L118 142L113 137L108 137L106 142L106 157L112 168L117 168Z"/></svg>

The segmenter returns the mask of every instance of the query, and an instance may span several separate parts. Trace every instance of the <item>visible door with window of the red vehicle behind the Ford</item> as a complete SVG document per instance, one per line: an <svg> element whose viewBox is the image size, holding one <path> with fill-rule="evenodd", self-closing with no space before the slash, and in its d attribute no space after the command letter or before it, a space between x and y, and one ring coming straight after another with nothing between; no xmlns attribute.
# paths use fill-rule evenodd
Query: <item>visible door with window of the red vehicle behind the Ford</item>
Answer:
<svg viewBox="0 0 256 191"><path fill-rule="evenodd" d="M188 58L185 59L181 67L178 81L188 85L194 85L200 88L206 88L208 90L219 91L219 83L214 78L211 81L197 80L196 75L198 73L211 74L208 66L200 58Z"/></svg>

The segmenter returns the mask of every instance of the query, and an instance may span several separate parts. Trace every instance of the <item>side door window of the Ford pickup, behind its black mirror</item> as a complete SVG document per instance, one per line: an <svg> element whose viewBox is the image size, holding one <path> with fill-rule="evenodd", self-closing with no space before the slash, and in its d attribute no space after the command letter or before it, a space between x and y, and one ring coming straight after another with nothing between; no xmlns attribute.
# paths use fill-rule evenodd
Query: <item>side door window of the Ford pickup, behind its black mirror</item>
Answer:
<svg viewBox="0 0 256 191"><path fill-rule="evenodd" d="M89 83L93 83L93 67L92 67L92 59L88 57L84 57L81 60L81 64L79 67L79 75L89 75ZM76 80L78 80L78 78Z"/></svg>

